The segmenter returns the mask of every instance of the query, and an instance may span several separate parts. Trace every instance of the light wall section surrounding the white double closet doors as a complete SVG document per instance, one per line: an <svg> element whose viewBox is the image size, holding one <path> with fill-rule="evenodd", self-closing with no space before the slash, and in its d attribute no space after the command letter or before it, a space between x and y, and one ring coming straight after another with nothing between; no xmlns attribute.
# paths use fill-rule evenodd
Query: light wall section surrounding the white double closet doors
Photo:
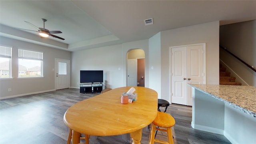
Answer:
<svg viewBox="0 0 256 144"><path fill-rule="evenodd" d="M206 84L219 84L219 21L161 32L161 98L170 101L170 46L206 43Z"/></svg>

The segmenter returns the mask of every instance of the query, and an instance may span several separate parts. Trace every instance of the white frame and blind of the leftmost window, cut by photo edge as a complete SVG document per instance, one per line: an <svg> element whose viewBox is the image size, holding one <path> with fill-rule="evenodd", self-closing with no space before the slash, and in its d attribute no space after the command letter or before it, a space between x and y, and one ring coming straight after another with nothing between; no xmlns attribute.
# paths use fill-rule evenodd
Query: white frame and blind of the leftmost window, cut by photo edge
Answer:
<svg viewBox="0 0 256 144"><path fill-rule="evenodd" d="M1 58L10 58L9 60L9 77L12 78L12 47L11 46L0 46L0 57ZM7 79L7 78L0 78Z"/></svg>

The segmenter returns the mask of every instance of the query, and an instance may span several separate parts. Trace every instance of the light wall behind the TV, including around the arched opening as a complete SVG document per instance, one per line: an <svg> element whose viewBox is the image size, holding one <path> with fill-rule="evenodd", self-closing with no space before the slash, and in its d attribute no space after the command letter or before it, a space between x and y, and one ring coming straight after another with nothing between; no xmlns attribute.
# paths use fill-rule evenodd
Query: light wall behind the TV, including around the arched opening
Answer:
<svg viewBox="0 0 256 144"><path fill-rule="evenodd" d="M146 65L146 61L148 61L146 60L148 59L148 40L72 52L71 87L79 87L80 70L103 70L106 88L126 86L127 54L134 49L144 50ZM146 67L148 68L148 66ZM121 70L118 70L118 68L121 68ZM148 70L145 71L146 79L148 79Z"/></svg>

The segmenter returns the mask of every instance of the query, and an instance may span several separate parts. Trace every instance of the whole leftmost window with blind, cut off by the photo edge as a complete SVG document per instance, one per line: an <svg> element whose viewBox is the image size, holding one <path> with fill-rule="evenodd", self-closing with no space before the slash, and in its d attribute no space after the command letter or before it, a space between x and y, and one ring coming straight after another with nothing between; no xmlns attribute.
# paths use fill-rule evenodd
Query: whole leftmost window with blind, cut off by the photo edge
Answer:
<svg viewBox="0 0 256 144"><path fill-rule="evenodd" d="M12 48L0 46L0 78L12 77Z"/></svg>

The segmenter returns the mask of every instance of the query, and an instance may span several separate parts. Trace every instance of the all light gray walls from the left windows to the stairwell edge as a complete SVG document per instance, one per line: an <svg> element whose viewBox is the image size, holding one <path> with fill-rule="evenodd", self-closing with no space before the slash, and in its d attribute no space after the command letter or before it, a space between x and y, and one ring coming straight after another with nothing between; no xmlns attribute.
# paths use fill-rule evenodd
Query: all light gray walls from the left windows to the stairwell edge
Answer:
<svg viewBox="0 0 256 144"><path fill-rule="evenodd" d="M106 88L126 86L128 52L142 49L145 53L145 87L158 92L158 98L170 101L170 46L197 44L206 42L206 83L219 82L219 22L198 24L184 28L159 32L148 40L139 40L123 44L66 52L55 48L30 44L18 40L2 38L1 44L44 52L44 78L18 80L16 74L12 80L1 80L2 96L21 96L55 90L54 58L71 60L70 87L79 88L80 70L104 70ZM14 62L17 58L13 57ZM14 63L13 62L13 63ZM17 64L16 64L17 65ZM153 66L153 69L151 67ZM15 63L13 64L15 71ZM120 70L118 70L120 68ZM17 70L16 70L17 71ZM26 85L24 85L26 84ZM7 92L8 88L12 92Z"/></svg>

